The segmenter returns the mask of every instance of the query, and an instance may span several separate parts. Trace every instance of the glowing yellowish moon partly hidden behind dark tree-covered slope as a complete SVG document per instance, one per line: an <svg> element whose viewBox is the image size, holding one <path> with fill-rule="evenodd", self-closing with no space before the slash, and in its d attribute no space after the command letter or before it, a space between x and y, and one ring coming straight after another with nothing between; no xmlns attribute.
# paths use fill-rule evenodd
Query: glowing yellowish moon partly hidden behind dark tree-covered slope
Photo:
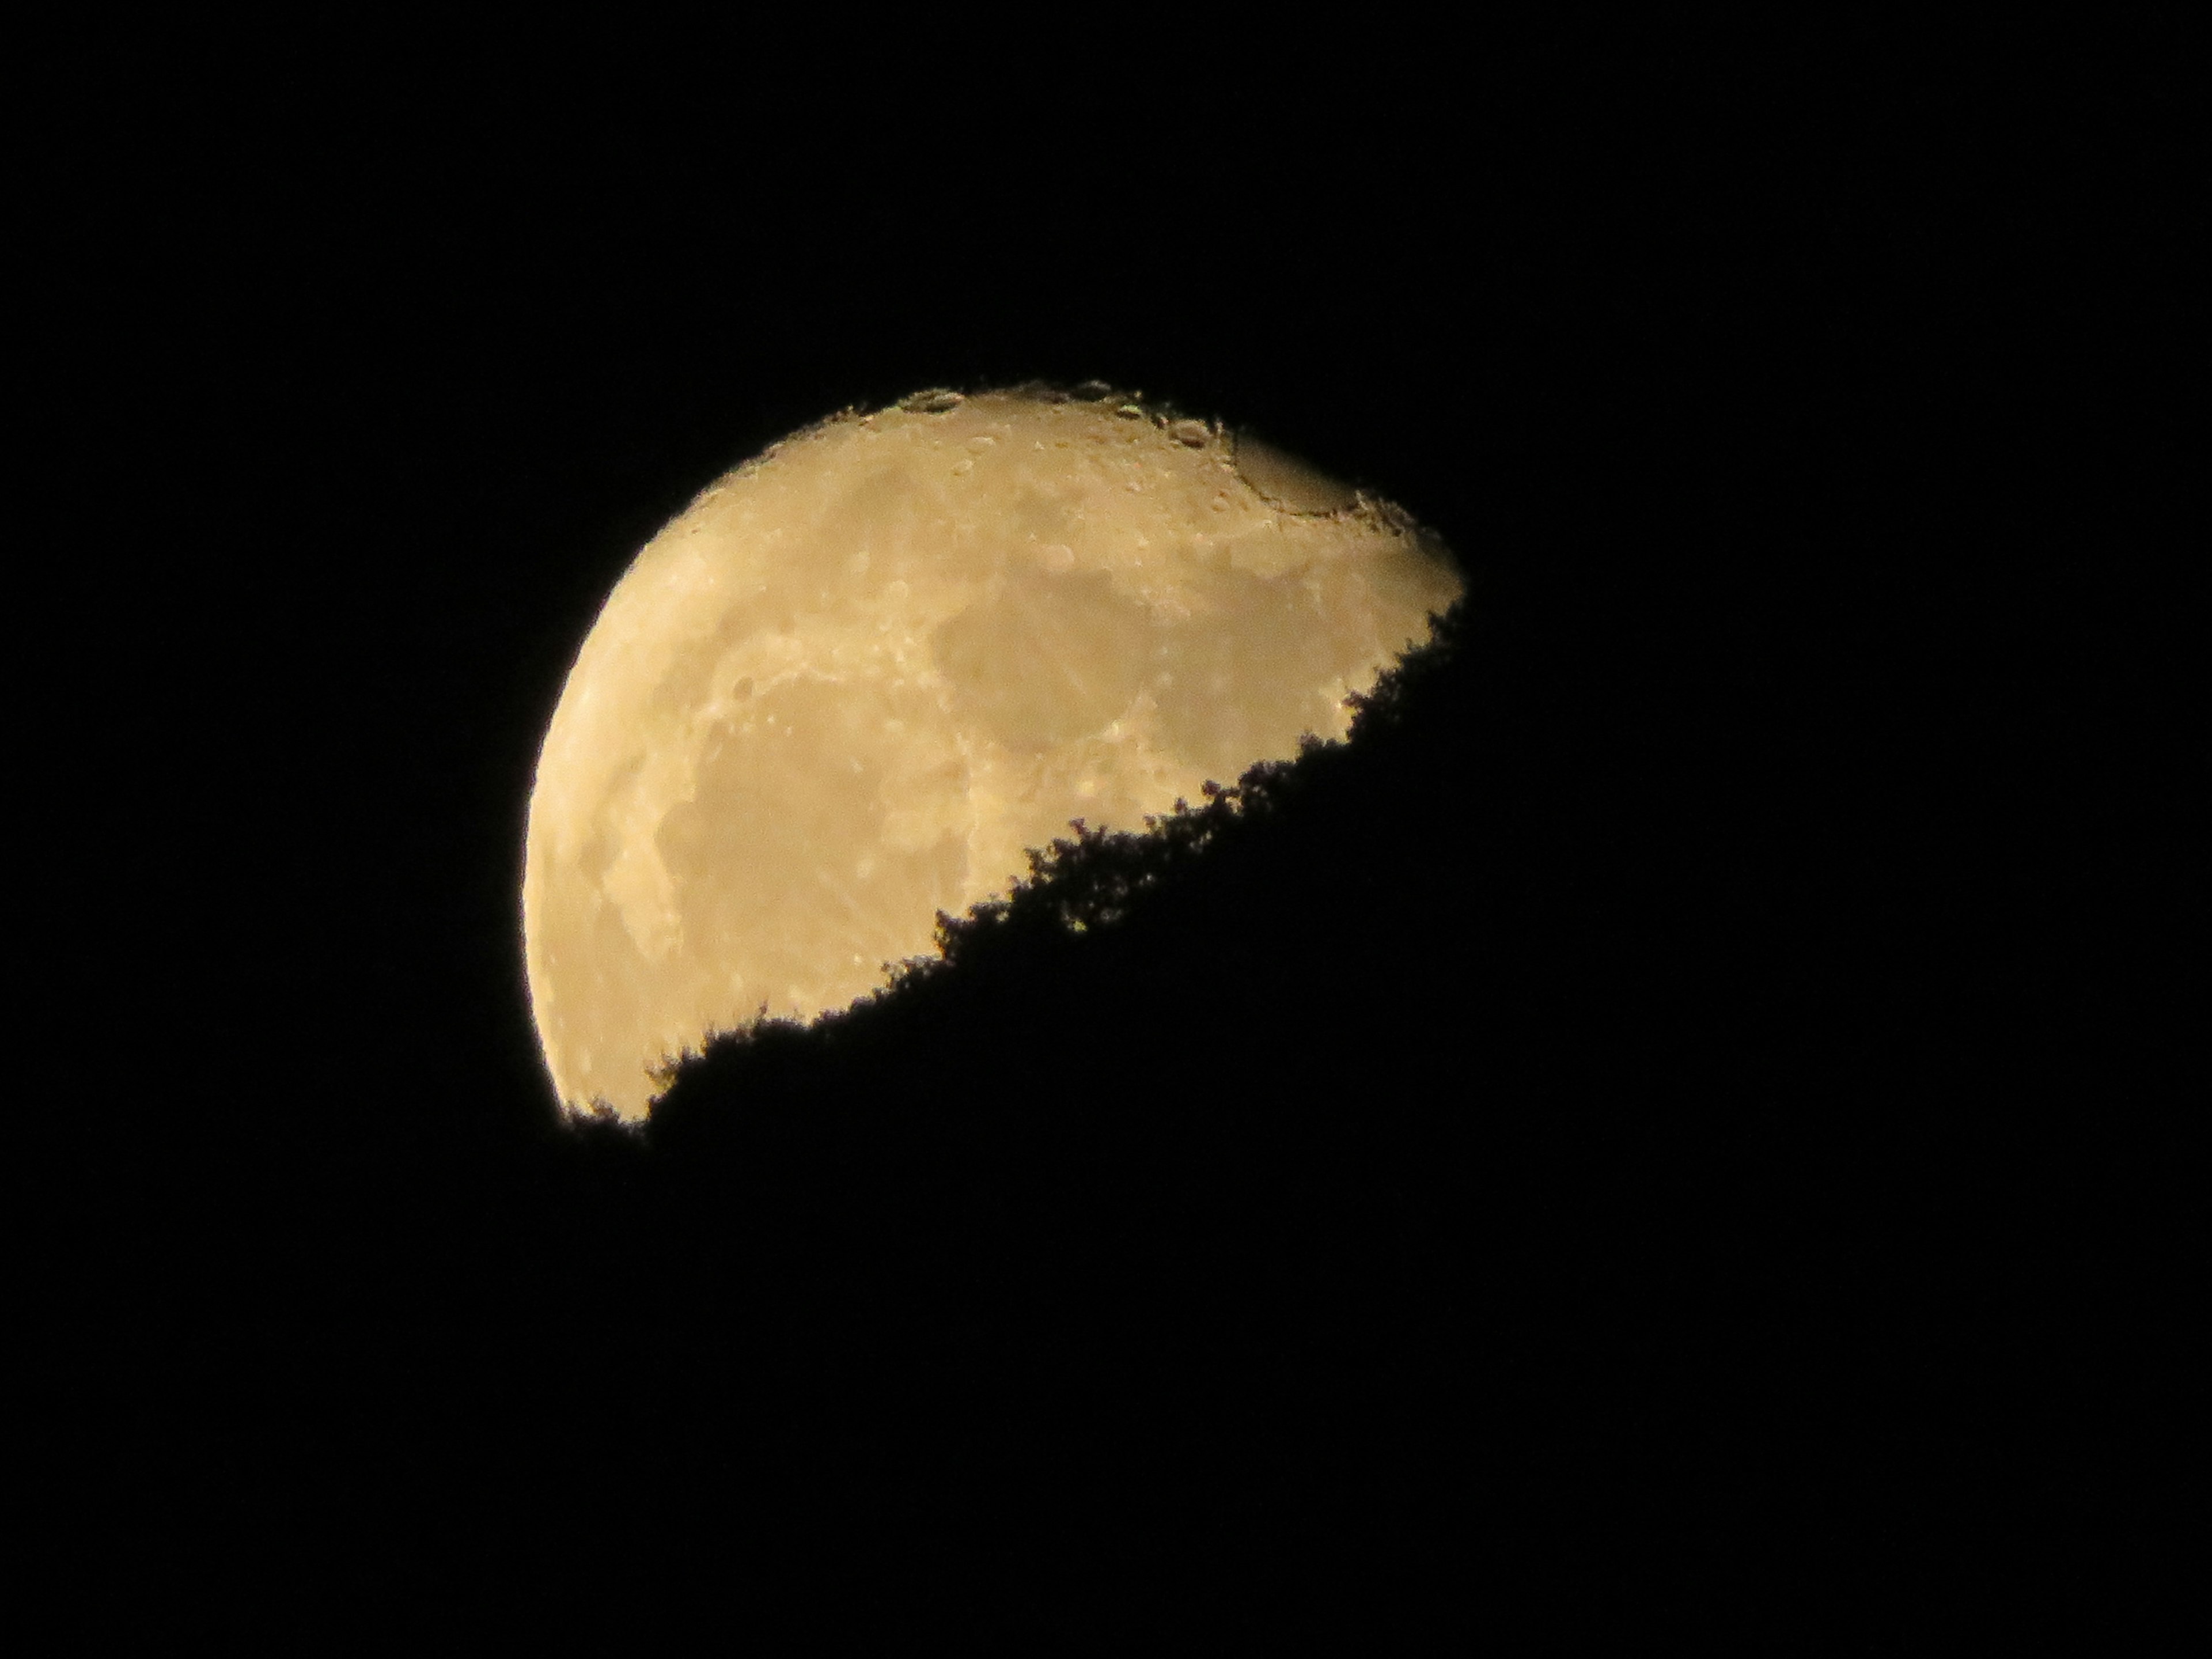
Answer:
<svg viewBox="0 0 2212 1659"><path fill-rule="evenodd" d="M639 551L538 757L557 1097L641 1119L714 1033L929 956L1073 818L1141 830L1343 737L1460 591L1400 509L1133 396L927 392L770 445Z"/></svg>

